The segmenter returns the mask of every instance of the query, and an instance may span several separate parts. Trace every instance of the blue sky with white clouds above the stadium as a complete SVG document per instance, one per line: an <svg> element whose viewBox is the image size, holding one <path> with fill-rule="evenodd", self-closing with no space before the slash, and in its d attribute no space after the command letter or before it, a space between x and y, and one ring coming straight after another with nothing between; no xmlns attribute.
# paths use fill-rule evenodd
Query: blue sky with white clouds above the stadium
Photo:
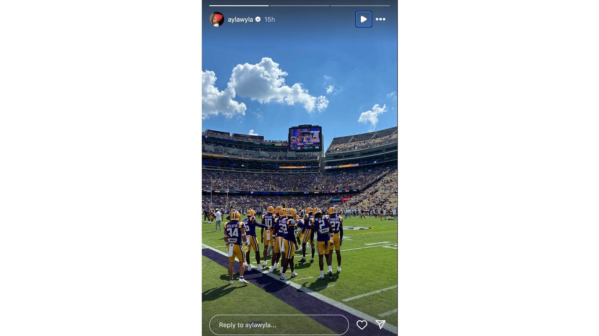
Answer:
<svg viewBox="0 0 599 336"><path fill-rule="evenodd" d="M202 130L283 140L290 126L317 124L328 146L334 136L397 126L394 8L373 10L373 28L355 28L354 8L218 10L222 26L202 22ZM265 15L276 23L226 21Z"/></svg>

